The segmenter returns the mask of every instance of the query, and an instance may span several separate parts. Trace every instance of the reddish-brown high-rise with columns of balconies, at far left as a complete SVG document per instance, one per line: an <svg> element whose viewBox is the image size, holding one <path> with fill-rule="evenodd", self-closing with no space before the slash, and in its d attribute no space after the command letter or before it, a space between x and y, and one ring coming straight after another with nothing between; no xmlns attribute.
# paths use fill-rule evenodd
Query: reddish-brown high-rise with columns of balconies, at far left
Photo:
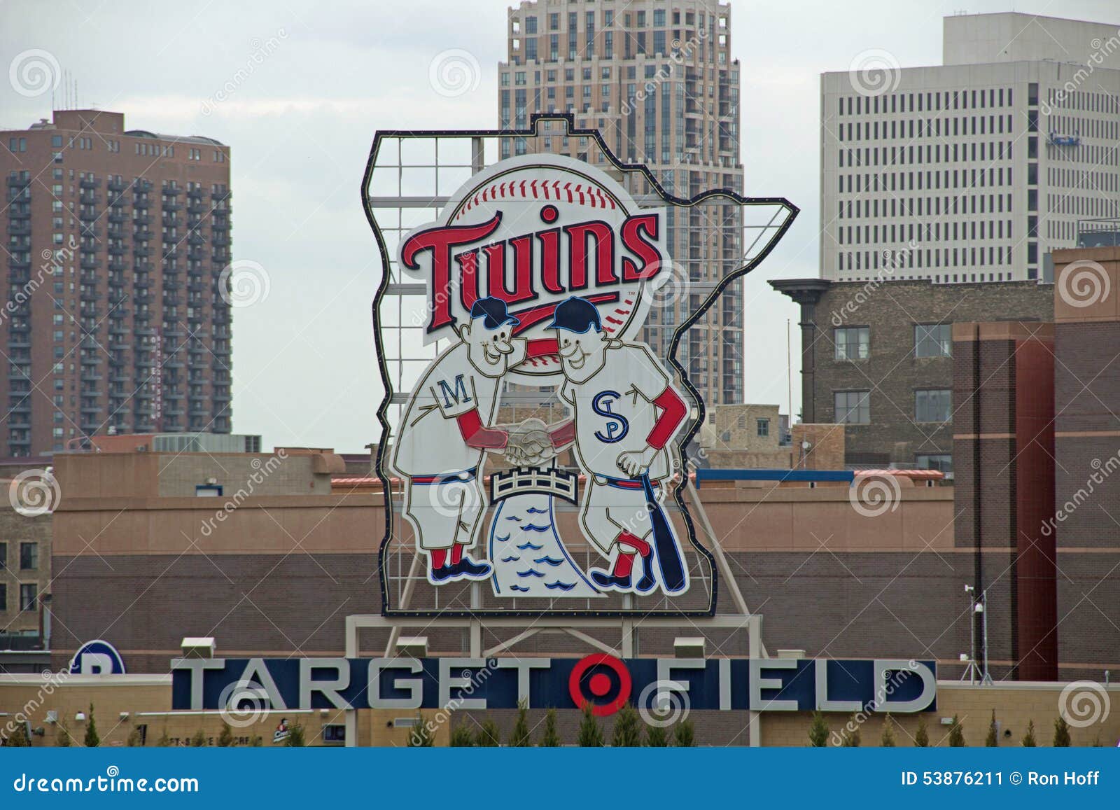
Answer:
<svg viewBox="0 0 1120 810"><path fill-rule="evenodd" d="M57 110L0 132L0 455L230 431L230 148Z"/></svg>

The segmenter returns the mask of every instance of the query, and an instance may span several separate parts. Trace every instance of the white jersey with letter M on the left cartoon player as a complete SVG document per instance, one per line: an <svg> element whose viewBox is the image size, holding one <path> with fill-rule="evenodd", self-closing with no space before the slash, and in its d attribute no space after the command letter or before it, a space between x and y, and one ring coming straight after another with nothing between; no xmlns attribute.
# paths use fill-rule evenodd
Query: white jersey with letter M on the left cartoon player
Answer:
<svg viewBox="0 0 1120 810"><path fill-rule="evenodd" d="M492 425L501 382L470 364L467 344L449 348L429 366L412 392L396 436L396 472L404 476L433 475L482 464L483 450L464 441L456 419L477 408L483 426Z"/></svg>

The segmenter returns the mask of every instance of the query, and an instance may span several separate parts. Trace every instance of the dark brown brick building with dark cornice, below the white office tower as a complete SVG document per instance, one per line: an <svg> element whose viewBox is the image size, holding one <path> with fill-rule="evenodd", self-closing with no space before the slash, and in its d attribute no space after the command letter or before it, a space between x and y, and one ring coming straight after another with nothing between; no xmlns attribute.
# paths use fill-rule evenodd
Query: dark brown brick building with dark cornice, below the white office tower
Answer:
<svg viewBox="0 0 1120 810"><path fill-rule="evenodd" d="M801 419L843 425L849 466L953 471L952 325L1049 322L1054 289L1034 281L930 280L771 286L801 307Z"/></svg>

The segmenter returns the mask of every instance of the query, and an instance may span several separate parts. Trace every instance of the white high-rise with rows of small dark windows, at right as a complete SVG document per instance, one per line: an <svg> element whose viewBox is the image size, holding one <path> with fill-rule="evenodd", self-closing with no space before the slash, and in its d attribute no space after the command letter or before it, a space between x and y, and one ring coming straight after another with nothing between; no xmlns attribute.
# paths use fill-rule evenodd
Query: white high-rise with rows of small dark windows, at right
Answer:
<svg viewBox="0 0 1120 810"><path fill-rule="evenodd" d="M943 52L822 74L822 278L1046 280L1079 222L1120 216L1116 25L946 17Z"/></svg>

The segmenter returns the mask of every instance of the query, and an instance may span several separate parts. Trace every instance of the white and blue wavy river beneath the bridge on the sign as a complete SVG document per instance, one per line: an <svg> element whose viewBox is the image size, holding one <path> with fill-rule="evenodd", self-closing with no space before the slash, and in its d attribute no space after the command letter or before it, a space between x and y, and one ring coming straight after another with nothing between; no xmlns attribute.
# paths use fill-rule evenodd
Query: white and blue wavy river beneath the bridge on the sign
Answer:
<svg viewBox="0 0 1120 810"><path fill-rule="evenodd" d="M552 497L511 495L491 519L489 559L496 596L598 596L556 528Z"/></svg>

